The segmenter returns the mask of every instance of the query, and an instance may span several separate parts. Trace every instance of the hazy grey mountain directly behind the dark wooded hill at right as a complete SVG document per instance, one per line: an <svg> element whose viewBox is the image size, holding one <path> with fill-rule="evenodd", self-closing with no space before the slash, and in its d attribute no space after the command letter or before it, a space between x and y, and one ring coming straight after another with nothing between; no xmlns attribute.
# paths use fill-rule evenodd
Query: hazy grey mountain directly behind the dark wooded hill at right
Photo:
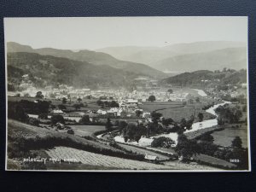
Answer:
<svg viewBox="0 0 256 192"><path fill-rule="evenodd" d="M172 56L156 62L156 68L162 71L192 72L201 69L219 70L224 67L236 70L247 68L247 49L218 49L204 53Z"/></svg>

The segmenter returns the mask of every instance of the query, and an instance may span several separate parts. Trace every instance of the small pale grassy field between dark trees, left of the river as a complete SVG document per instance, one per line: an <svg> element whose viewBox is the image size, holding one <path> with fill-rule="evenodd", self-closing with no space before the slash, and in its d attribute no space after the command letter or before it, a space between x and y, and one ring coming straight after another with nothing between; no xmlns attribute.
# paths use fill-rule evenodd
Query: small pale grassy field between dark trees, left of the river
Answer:
<svg viewBox="0 0 256 192"><path fill-rule="evenodd" d="M105 130L103 125L70 125L76 136L90 136L95 131Z"/></svg>

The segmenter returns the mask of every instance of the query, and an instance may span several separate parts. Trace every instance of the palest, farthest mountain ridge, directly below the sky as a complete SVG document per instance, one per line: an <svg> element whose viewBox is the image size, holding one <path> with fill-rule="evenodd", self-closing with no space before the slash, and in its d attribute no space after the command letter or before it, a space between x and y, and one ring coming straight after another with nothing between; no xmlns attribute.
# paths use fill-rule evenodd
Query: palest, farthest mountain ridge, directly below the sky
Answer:
<svg viewBox="0 0 256 192"><path fill-rule="evenodd" d="M246 48L246 44L229 41L208 41L189 44L172 44L166 47L109 47L97 49L104 53L113 55L120 60L133 61L147 64L156 69L165 70L159 67L166 59L177 55L190 55L211 52L218 49ZM168 68L168 67L167 67ZM201 69L207 69L207 66ZM169 70L169 69L168 69ZM171 69L171 71L175 71Z"/></svg>

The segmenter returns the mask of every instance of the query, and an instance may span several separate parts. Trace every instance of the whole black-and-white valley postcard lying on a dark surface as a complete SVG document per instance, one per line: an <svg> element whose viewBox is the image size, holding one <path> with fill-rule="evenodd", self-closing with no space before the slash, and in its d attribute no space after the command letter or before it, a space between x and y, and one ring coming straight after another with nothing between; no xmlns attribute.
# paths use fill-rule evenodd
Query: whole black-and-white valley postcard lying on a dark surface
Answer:
<svg viewBox="0 0 256 192"><path fill-rule="evenodd" d="M7 171L251 171L247 16L3 21Z"/></svg>

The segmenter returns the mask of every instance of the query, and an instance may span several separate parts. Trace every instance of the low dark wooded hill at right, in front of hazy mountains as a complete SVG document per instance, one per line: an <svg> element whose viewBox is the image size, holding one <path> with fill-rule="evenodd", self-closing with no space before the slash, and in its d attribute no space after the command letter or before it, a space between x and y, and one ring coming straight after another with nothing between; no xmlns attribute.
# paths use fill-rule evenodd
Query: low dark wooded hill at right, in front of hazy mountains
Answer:
<svg viewBox="0 0 256 192"><path fill-rule="evenodd" d="M206 86L220 84L237 84L247 82L246 70L230 70L212 72L209 70L199 70L192 73L181 73L174 77L162 79L162 84L172 84L177 86Z"/></svg>

